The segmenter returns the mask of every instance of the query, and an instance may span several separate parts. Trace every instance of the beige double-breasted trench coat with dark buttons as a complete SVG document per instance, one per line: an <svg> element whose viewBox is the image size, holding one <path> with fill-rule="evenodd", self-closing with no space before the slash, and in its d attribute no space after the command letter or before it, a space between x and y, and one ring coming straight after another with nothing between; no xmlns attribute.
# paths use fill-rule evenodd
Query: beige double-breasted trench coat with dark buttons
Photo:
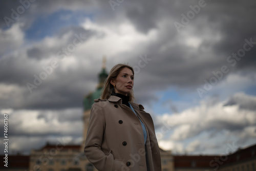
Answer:
<svg viewBox="0 0 256 171"><path fill-rule="evenodd" d="M143 106L130 102L146 127L146 144L140 120L121 98L94 101L84 147L88 160L100 171L161 171L154 123Z"/></svg>

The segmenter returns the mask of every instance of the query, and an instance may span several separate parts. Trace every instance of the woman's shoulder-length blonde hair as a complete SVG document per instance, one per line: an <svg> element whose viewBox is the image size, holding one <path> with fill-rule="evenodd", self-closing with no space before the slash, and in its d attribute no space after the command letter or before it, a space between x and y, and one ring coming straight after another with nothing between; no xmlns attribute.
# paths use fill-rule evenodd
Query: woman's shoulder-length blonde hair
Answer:
<svg viewBox="0 0 256 171"><path fill-rule="evenodd" d="M108 99L112 93L115 93L114 86L110 83L110 81L112 79L115 79L123 68L128 68L128 69L132 70L133 75L134 75L134 70L131 66L129 66L127 64L121 64L121 63L115 65L110 70L109 76L108 76L108 78L106 78L106 80L103 84L103 88L102 88L102 92L101 92L101 96L100 96L101 99ZM130 97L129 101L133 102L135 100L134 95L133 95L133 89L132 89L131 93L127 94L127 96Z"/></svg>

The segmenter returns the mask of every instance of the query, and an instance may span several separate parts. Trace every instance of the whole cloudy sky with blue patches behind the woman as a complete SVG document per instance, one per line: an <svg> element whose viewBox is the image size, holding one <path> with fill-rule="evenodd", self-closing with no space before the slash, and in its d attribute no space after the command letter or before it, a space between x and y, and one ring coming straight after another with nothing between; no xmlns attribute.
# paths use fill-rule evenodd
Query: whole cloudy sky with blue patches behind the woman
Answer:
<svg viewBox="0 0 256 171"><path fill-rule="evenodd" d="M135 97L161 148L225 154L255 144L255 1L24 0L0 8L0 130L8 114L10 153L59 138L80 144L82 100L96 89L102 56L107 71L134 67Z"/></svg>

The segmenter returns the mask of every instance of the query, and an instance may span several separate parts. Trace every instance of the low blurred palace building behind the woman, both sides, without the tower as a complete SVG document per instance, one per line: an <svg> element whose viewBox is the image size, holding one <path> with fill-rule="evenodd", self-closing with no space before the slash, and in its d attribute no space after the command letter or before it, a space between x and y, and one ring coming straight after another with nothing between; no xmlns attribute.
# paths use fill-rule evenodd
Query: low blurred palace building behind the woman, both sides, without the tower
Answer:
<svg viewBox="0 0 256 171"><path fill-rule="evenodd" d="M80 145L46 144L30 156L8 156L8 167L1 170L96 170L80 152ZM255 171L256 144L226 156L173 156L160 149L162 171ZM4 158L4 156L0 156Z"/></svg>

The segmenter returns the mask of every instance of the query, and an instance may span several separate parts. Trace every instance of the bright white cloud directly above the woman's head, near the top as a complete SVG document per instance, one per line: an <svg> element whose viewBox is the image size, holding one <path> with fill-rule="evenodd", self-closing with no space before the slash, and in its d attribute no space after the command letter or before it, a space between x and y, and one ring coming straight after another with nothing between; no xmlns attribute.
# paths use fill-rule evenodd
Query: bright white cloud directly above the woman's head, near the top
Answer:
<svg viewBox="0 0 256 171"><path fill-rule="evenodd" d="M119 53L133 51L136 45L146 44L147 41L156 37L155 30L148 34L142 34L127 20L124 20L122 24L117 25L114 29L98 25L89 19L86 19L82 26L85 29L92 29L103 33L102 38L94 37L83 48L79 47L79 49L90 49L88 52L89 56L101 57L102 54L105 54L111 58Z"/></svg>

